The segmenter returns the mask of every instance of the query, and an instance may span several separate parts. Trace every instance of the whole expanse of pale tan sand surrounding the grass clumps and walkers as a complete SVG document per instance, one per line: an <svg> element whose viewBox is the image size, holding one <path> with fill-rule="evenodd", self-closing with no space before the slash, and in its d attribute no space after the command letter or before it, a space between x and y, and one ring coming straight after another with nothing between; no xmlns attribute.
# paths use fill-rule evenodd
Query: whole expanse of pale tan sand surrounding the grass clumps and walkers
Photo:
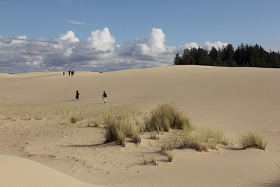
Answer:
<svg viewBox="0 0 280 187"><path fill-rule="evenodd" d="M0 74L0 186L279 186L280 69L168 66L106 73ZM76 90L80 99L75 99ZM103 104L102 92L108 93ZM175 102L196 127L219 128L230 146L207 152L104 144L104 111L133 116ZM70 123L71 116L78 123ZM134 118L133 117L133 118ZM99 127L94 120L99 120ZM269 141L241 149L248 130ZM16 156L16 157L15 157ZM144 165L155 158L158 165ZM43 164L43 165L42 165Z"/></svg>

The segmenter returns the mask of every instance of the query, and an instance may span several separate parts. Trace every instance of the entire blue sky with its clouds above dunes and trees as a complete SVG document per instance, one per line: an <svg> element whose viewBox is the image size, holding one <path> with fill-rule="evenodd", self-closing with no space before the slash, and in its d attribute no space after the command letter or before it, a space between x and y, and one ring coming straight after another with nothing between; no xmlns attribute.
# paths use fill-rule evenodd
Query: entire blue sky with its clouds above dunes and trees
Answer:
<svg viewBox="0 0 280 187"><path fill-rule="evenodd" d="M0 0L0 73L173 64L185 48L280 50L279 0Z"/></svg>

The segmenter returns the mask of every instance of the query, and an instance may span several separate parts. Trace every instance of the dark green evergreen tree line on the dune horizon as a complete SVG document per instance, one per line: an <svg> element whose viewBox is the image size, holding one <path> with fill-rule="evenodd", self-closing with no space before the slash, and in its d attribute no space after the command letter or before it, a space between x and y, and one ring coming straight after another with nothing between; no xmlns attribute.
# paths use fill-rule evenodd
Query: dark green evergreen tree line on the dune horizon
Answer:
<svg viewBox="0 0 280 187"><path fill-rule="evenodd" d="M177 53L174 57L175 65L206 65L218 67L280 67L280 53L269 51L269 53L262 48L262 46L244 46L241 43L235 50L232 44L223 46L218 50L214 47L211 50L203 48L186 48L180 56Z"/></svg>

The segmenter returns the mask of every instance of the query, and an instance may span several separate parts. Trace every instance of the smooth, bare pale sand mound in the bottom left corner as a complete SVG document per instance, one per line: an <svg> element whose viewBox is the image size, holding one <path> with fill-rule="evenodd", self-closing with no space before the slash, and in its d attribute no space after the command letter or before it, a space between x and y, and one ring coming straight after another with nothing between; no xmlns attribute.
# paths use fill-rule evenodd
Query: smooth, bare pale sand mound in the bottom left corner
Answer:
<svg viewBox="0 0 280 187"><path fill-rule="evenodd" d="M0 186L95 186L25 158L0 155Z"/></svg>

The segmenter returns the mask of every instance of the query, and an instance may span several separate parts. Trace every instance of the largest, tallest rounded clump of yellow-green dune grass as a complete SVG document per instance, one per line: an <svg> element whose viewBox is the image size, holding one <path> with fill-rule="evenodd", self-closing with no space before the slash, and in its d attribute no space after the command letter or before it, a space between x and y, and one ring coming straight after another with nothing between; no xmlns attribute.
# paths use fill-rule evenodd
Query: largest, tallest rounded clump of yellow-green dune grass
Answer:
<svg viewBox="0 0 280 187"><path fill-rule="evenodd" d="M151 110L148 120L149 130L164 130L169 132L170 127L182 130L183 128L191 129L193 125L189 118L173 102L169 104L159 104L158 108Z"/></svg>

